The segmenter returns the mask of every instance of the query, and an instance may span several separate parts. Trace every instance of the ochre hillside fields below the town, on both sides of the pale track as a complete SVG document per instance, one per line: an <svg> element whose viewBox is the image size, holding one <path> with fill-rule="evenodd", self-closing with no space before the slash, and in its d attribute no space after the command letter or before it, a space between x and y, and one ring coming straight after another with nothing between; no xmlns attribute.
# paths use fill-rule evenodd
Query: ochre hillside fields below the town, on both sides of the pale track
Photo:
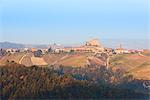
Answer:
<svg viewBox="0 0 150 100"><path fill-rule="evenodd" d="M114 73L121 72L125 77L132 75L135 79L150 80L150 57L146 54L120 54L110 58L109 67ZM32 53L7 54L0 59L0 65L14 61L25 66L38 65L46 67L49 65L66 67L100 67L105 66L105 57L94 56L90 53L60 53L45 54L34 57ZM114 79L115 80L115 79Z"/></svg>

